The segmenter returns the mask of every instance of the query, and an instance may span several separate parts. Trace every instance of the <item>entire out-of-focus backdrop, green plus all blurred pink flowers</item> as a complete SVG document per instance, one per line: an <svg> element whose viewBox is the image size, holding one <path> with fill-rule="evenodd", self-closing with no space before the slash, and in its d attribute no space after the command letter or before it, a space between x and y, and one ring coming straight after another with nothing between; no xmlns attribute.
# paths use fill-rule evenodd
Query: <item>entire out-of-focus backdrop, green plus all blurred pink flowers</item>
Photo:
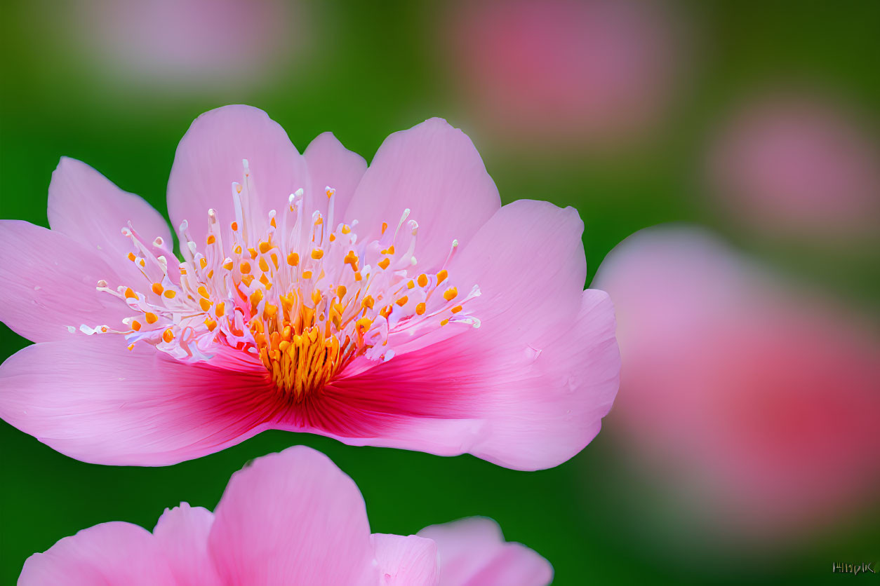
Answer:
<svg viewBox="0 0 880 586"><path fill-rule="evenodd" d="M880 571L880 4L6 0L3 13L4 219L47 225L60 156L165 213L177 141L218 105L266 110L300 149L332 130L368 161L387 134L442 116L504 202L579 210L623 375L598 438L535 473L278 431L173 467L99 467L0 422L0 582L84 527L213 508L246 461L297 443L355 479L374 531L493 517L554 583ZM0 358L26 344L0 325Z"/></svg>

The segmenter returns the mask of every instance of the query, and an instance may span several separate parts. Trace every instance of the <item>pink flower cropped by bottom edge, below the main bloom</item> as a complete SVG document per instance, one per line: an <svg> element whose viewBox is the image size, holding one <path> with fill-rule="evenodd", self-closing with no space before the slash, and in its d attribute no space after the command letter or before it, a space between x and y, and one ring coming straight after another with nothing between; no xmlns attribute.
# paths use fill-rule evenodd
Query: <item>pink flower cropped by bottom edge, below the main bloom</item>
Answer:
<svg viewBox="0 0 880 586"><path fill-rule="evenodd" d="M355 482L297 445L233 474L213 513L181 503L152 533L119 521L84 529L34 553L18 584L542 586L552 577L490 519L370 535Z"/></svg>

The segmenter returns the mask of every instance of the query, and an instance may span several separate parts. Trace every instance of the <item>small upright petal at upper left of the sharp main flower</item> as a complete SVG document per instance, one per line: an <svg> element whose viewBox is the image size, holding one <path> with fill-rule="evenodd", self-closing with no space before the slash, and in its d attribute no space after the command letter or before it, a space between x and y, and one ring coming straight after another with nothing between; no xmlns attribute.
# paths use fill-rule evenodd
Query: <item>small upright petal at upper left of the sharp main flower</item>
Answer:
<svg viewBox="0 0 880 586"><path fill-rule="evenodd" d="M97 250L129 282L140 282L143 277L126 258L133 247L121 228L128 228L130 221L146 242L157 236L169 248L174 242L165 218L150 204L134 193L123 192L89 165L66 156L52 173L48 216L53 230Z"/></svg>

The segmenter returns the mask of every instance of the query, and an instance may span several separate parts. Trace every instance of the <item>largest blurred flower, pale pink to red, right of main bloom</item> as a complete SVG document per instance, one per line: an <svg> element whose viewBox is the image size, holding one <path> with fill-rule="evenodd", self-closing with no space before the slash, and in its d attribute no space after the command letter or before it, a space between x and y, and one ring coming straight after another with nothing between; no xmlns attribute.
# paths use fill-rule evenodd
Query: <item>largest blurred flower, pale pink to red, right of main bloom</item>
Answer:
<svg viewBox="0 0 880 586"><path fill-rule="evenodd" d="M595 283L619 320L616 429L696 517L768 537L876 491L876 335L696 229L631 236Z"/></svg>

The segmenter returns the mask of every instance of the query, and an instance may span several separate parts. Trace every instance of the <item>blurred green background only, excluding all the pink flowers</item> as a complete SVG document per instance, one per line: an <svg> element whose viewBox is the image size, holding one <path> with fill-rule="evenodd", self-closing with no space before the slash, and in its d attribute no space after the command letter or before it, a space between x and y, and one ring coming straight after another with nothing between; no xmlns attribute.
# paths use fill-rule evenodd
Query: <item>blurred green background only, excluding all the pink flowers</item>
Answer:
<svg viewBox="0 0 880 586"><path fill-rule="evenodd" d="M290 8L297 26L282 27L296 42L276 49L295 54L260 74L259 82L242 76L171 88L117 80L102 71L106 65L94 52L80 50L84 39L98 34L89 27L101 25L93 15L75 18L86 4L4 2L4 219L48 225L47 187L60 156L91 164L165 213L177 141L192 119L218 105L266 110L301 151L332 130L368 161L387 134L438 115L473 138L505 203L533 198L577 207L586 226L588 283L627 235L659 222L695 221L804 279L878 307L876 249L829 252L810 242L749 235L703 203L693 170L715 120L766 83L818 81L863 111L880 112L880 3L676 4L688 35L686 75L676 98L648 139L608 150L554 150L539 141L511 147L480 125L456 83L456 64L447 59L439 30L454 21L455 4L297 4ZM106 47L101 51L106 56ZM261 65L253 61L253 68ZM0 358L28 344L0 328ZM612 411L604 431L576 458L552 470L520 473L470 456L348 447L278 431L173 467L99 467L62 456L0 422L0 582L13 583L28 555L84 527L125 520L151 528L162 510L181 501L212 509L247 460L299 443L325 452L354 478L374 531L409 534L458 517L493 517L507 539L551 561L559 584L824 582L837 578L828 568L833 561L856 561L852 552L866 544L880 549L876 510L771 553L741 552L736 542L725 541L669 547L644 528L639 512L662 496L627 468L613 426ZM665 522L674 528L678 519ZM686 525L681 531L688 531Z"/></svg>

